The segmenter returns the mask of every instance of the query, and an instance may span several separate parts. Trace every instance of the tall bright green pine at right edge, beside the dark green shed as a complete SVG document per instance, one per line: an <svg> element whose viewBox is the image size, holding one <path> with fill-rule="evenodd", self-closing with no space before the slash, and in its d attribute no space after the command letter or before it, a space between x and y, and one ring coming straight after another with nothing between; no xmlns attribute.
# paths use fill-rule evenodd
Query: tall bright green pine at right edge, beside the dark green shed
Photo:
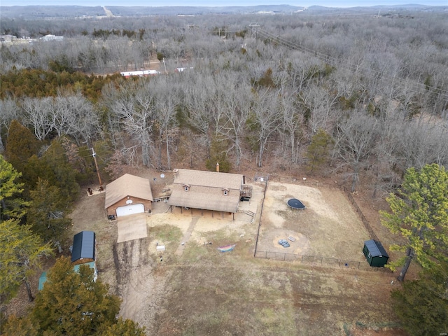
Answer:
<svg viewBox="0 0 448 336"><path fill-rule="evenodd" d="M448 172L444 167L433 164L420 171L407 169L402 187L387 202L391 212L381 211L382 223L405 239L404 244L391 246L405 252L391 263L391 267L402 266L398 280L405 279L414 257L423 268L448 258Z"/></svg>

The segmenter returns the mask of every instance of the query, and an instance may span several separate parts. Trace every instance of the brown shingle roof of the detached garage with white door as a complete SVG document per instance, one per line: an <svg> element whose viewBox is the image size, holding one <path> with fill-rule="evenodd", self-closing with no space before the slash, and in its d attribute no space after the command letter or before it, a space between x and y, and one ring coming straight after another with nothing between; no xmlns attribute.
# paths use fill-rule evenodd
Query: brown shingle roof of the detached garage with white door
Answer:
<svg viewBox="0 0 448 336"><path fill-rule="evenodd" d="M104 209L111 207L116 202L127 196L138 197L143 200L153 200L151 186L148 179L125 174L106 186L106 201Z"/></svg>

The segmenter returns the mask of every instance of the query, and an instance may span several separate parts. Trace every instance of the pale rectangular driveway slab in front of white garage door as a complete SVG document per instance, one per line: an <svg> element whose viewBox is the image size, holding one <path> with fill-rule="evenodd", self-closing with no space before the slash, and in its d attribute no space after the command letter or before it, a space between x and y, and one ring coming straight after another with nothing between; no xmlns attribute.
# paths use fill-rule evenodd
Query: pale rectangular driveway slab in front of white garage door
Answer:
<svg viewBox="0 0 448 336"><path fill-rule="evenodd" d="M146 214L133 214L117 217L117 243L148 237Z"/></svg>

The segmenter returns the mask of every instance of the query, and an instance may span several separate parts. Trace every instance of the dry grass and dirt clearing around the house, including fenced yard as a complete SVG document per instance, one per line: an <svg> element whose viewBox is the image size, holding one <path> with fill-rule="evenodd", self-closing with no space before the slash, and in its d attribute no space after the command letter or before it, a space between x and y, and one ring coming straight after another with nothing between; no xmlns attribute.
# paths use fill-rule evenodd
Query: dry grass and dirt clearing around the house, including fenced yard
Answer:
<svg viewBox="0 0 448 336"><path fill-rule="evenodd" d="M169 181L155 183L165 188ZM365 267L361 249L369 237L342 191L279 181L269 181L265 197L265 183L253 190L235 221L155 203L148 237L119 244L104 194L83 195L73 232L97 232L99 277L122 297L120 314L148 335L405 335L394 329L388 302L395 274ZM291 197L307 209L290 209ZM253 257L259 223L258 251L274 258ZM289 236L296 239L290 248L276 243ZM228 244L235 250L217 250ZM283 261L283 253L344 262Z"/></svg>

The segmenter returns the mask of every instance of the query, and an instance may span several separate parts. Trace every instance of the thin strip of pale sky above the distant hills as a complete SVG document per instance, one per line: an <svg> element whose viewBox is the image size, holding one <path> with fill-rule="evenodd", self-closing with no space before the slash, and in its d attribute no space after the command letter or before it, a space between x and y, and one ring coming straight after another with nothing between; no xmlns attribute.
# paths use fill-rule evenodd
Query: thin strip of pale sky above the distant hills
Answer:
<svg viewBox="0 0 448 336"><path fill-rule="evenodd" d="M313 5L327 7L356 7L377 5L402 5L419 3L428 6L448 6L448 0L0 0L0 6L255 6Z"/></svg>

